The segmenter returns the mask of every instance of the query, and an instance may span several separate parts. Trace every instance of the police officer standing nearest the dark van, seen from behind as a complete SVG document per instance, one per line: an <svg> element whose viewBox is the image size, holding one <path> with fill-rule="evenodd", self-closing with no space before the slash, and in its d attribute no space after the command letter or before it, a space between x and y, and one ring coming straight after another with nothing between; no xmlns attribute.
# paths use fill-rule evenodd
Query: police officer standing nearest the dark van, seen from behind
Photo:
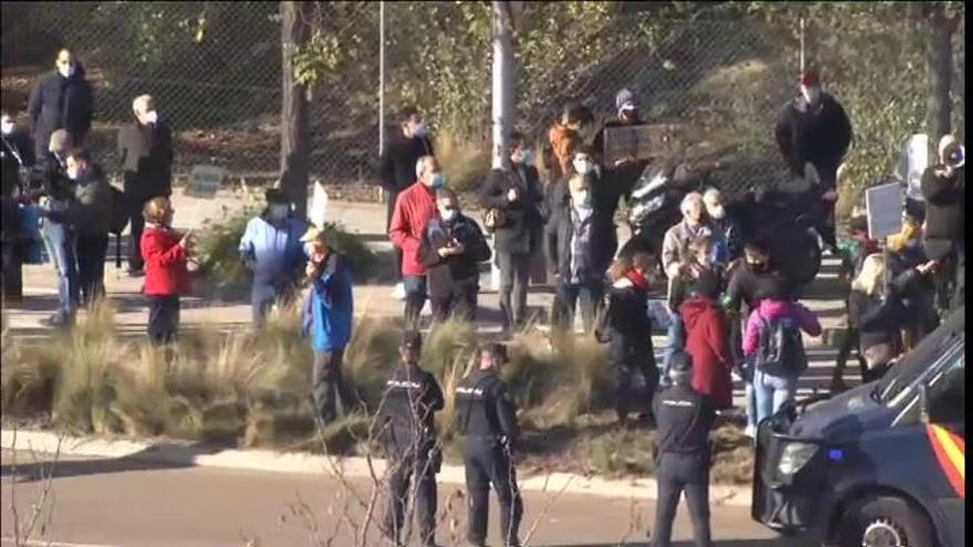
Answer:
<svg viewBox="0 0 973 547"><path fill-rule="evenodd" d="M669 547L679 495L692 519L698 547L712 547L710 538L709 433L715 411L707 396L692 389L692 359L679 351L669 369L672 387L652 401L658 438L658 502L655 547Z"/></svg>

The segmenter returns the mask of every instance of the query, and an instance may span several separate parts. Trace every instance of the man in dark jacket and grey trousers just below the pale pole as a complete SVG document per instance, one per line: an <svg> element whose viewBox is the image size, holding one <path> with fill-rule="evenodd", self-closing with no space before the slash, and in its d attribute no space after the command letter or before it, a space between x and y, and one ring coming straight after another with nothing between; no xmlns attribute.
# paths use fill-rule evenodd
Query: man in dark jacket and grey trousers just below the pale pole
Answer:
<svg viewBox="0 0 973 547"><path fill-rule="evenodd" d="M541 248L543 194L533 152L521 133L510 138L510 169L494 169L483 188L483 207L500 213L494 228L496 266L500 269L500 309L504 330L526 322L531 260Z"/></svg>

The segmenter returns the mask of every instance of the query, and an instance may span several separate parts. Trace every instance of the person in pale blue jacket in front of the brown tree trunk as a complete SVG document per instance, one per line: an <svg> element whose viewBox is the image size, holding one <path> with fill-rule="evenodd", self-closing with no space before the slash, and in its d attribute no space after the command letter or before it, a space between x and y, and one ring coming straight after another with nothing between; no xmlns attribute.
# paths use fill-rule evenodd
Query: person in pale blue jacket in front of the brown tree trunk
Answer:
<svg viewBox="0 0 973 547"><path fill-rule="evenodd" d="M263 327L276 302L293 296L304 260L301 236L307 228L291 214L291 202L284 192L271 188L265 197L266 209L250 219L240 239L240 256L253 271L250 301L257 330Z"/></svg>

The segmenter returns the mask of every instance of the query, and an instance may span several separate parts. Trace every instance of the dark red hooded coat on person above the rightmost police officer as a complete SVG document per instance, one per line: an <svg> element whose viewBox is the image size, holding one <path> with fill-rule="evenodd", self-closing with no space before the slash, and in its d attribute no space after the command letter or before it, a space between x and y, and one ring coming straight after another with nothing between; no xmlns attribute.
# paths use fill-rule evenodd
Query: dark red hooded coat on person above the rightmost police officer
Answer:
<svg viewBox="0 0 973 547"><path fill-rule="evenodd" d="M713 398L718 409L733 406L733 357L726 317L712 299L697 296L680 307L686 325L686 351L692 356L692 389Z"/></svg>

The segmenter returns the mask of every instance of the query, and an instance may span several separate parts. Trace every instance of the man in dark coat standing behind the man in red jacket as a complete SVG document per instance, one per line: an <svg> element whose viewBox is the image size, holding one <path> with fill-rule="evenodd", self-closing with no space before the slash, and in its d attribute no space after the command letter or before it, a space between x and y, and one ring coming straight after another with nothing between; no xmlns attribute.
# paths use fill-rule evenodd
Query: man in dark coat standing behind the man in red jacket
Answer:
<svg viewBox="0 0 973 547"><path fill-rule="evenodd" d="M379 185L388 192L388 211L385 221L386 231L391 224L391 215L395 211L396 199L399 192L412 186L416 181L416 162L422 156L432 156L432 140L429 137L429 128L422 120L422 115L414 106L402 109L399 117L399 130L393 132L385 147L379 166ZM396 285L397 298L405 298L402 286L402 251L394 249L396 257Z"/></svg>

